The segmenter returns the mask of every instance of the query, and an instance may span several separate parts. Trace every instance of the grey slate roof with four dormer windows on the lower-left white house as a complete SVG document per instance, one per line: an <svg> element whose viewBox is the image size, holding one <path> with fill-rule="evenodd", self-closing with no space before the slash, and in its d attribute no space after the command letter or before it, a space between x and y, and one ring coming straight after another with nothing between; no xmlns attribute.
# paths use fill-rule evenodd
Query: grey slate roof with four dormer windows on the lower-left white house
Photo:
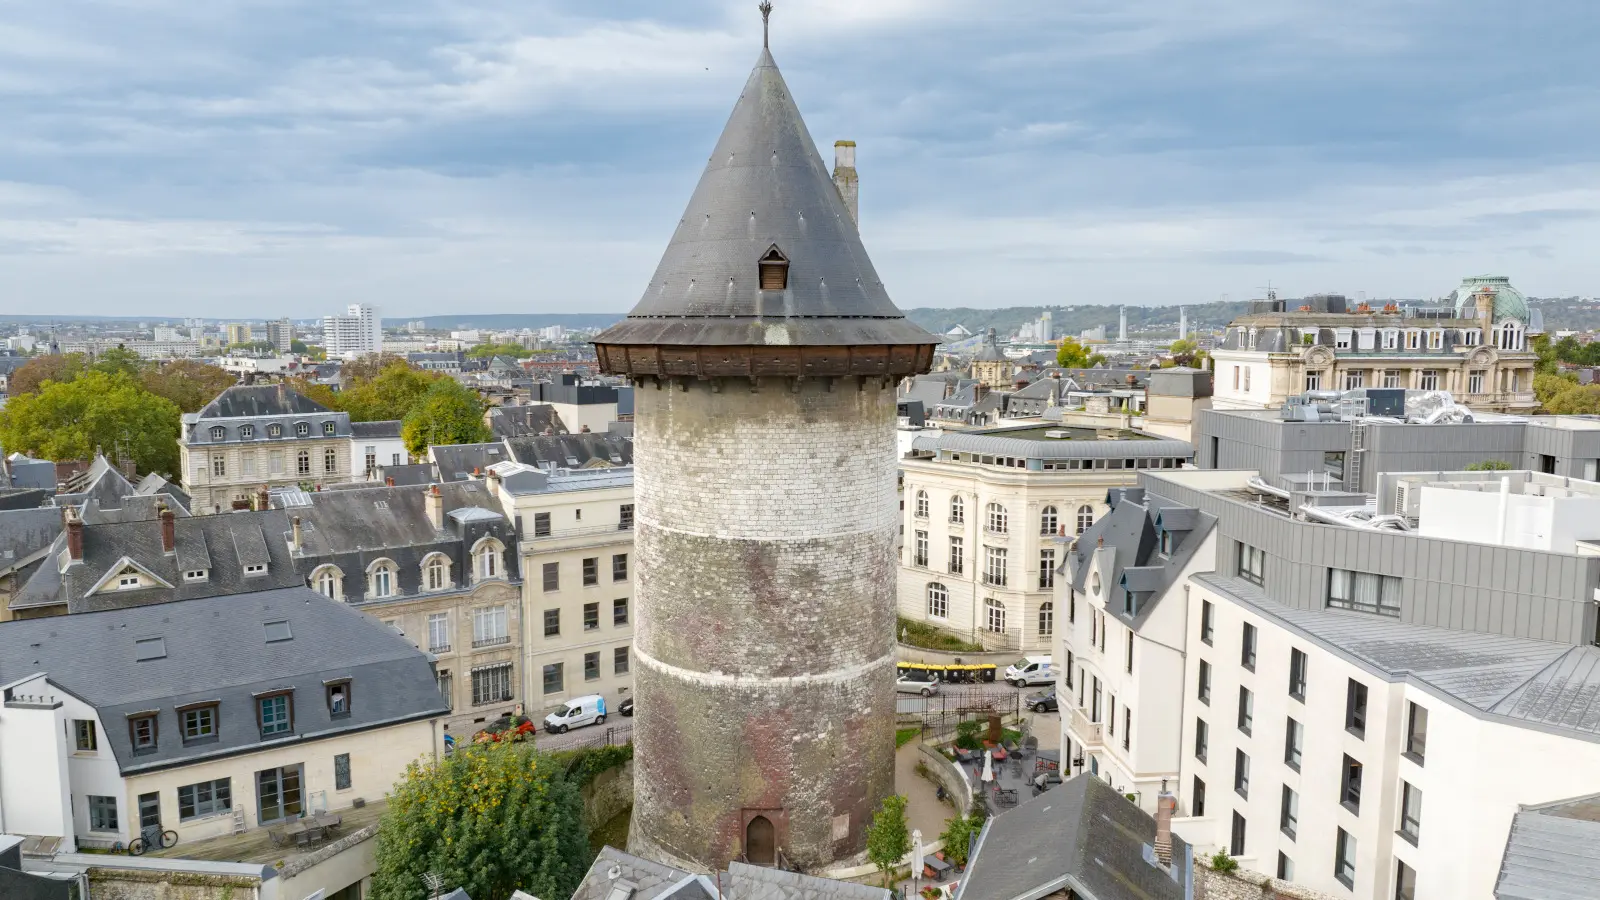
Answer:
<svg viewBox="0 0 1600 900"><path fill-rule="evenodd" d="M291 637L267 642L266 623ZM165 657L136 660L160 637ZM45 673L93 705L122 772L251 753L448 713L427 657L403 636L309 588L0 623L0 684ZM333 719L323 682L350 679L350 714ZM253 695L294 690L294 730L262 740ZM218 738L181 740L176 706L218 701ZM130 713L155 709L157 748L133 753Z"/></svg>

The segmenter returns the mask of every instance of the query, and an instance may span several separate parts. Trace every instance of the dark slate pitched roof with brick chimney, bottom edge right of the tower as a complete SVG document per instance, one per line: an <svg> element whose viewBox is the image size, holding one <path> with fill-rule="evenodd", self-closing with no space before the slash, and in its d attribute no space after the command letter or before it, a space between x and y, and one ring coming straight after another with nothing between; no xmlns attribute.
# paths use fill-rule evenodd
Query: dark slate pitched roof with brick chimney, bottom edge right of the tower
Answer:
<svg viewBox="0 0 1600 900"><path fill-rule="evenodd" d="M1082 900L1182 900L1192 860L1173 834L1173 874L1147 857L1155 818L1082 773L990 818L957 900L1035 900L1062 889Z"/></svg>

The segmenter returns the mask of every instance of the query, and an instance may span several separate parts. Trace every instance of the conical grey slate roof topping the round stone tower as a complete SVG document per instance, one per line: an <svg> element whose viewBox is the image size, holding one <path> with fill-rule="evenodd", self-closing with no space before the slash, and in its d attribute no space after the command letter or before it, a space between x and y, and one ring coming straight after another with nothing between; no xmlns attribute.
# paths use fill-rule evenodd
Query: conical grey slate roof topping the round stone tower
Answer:
<svg viewBox="0 0 1600 900"><path fill-rule="evenodd" d="M762 290L773 248L787 259L784 290ZM877 344L918 348L912 356L931 362L938 338L894 307L762 50L645 296L595 344L603 368L622 372L606 364L608 346Z"/></svg>

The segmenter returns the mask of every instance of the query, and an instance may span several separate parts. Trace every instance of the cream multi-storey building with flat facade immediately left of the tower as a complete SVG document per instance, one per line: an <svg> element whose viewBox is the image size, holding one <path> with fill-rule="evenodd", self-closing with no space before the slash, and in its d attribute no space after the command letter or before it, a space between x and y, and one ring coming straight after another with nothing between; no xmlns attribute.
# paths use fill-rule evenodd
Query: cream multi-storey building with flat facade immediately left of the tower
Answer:
<svg viewBox="0 0 1600 900"><path fill-rule="evenodd" d="M504 461L482 484L522 536L528 708L586 693L616 708L634 689L634 469L546 472Z"/></svg>

